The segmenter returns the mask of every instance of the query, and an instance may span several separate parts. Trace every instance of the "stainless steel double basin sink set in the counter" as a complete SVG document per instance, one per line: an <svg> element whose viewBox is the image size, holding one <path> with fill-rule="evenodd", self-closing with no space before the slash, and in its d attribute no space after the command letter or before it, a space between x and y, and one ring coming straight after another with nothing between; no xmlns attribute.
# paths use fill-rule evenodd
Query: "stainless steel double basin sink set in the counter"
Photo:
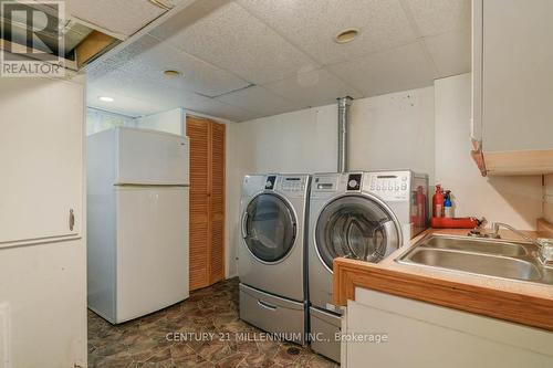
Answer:
<svg viewBox="0 0 553 368"><path fill-rule="evenodd" d="M553 285L553 267L539 254L539 248L526 242L429 234L396 261Z"/></svg>

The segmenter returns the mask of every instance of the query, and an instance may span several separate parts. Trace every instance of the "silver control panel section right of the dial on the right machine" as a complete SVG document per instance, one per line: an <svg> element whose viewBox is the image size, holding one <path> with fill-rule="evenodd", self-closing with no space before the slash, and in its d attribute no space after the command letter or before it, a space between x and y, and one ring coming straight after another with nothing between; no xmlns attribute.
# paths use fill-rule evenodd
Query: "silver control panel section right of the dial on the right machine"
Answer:
<svg viewBox="0 0 553 368"><path fill-rule="evenodd" d="M368 174L364 189L387 201L408 201L410 198L410 171L382 171Z"/></svg>

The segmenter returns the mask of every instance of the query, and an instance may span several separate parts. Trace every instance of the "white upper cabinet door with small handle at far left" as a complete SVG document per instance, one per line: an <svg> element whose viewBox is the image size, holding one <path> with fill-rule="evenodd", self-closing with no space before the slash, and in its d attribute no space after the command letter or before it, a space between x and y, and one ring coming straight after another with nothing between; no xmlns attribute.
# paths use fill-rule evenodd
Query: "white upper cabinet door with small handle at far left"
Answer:
<svg viewBox="0 0 553 368"><path fill-rule="evenodd" d="M0 82L0 246L80 235L83 102L77 83Z"/></svg>

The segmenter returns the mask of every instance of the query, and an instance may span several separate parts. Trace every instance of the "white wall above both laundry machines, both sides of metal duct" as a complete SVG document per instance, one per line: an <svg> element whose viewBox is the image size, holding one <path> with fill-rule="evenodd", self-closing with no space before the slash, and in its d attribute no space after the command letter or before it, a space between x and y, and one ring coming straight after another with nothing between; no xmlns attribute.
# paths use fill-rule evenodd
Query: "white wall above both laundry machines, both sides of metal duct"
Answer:
<svg viewBox="0 0 553 368"><path fill-rule="evenodd" d="M356 99L349 125L349 169L411 168L434 174L431 87ZM242 172L336 170L336 105L233 125Z"/></svg>

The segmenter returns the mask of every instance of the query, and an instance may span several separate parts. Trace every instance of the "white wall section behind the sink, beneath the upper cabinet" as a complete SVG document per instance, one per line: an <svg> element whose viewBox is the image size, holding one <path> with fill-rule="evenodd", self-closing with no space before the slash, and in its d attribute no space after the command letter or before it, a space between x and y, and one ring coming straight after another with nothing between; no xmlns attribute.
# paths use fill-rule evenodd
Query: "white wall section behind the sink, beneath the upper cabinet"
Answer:
<svg viewBox="0 0 553 368"><path fill-rule="evenodd" d="M436 81L435 95L436 180L455 194L456 215L535 229L542 214L541 176L483 178L469 155L470 74Z"/></svg>

